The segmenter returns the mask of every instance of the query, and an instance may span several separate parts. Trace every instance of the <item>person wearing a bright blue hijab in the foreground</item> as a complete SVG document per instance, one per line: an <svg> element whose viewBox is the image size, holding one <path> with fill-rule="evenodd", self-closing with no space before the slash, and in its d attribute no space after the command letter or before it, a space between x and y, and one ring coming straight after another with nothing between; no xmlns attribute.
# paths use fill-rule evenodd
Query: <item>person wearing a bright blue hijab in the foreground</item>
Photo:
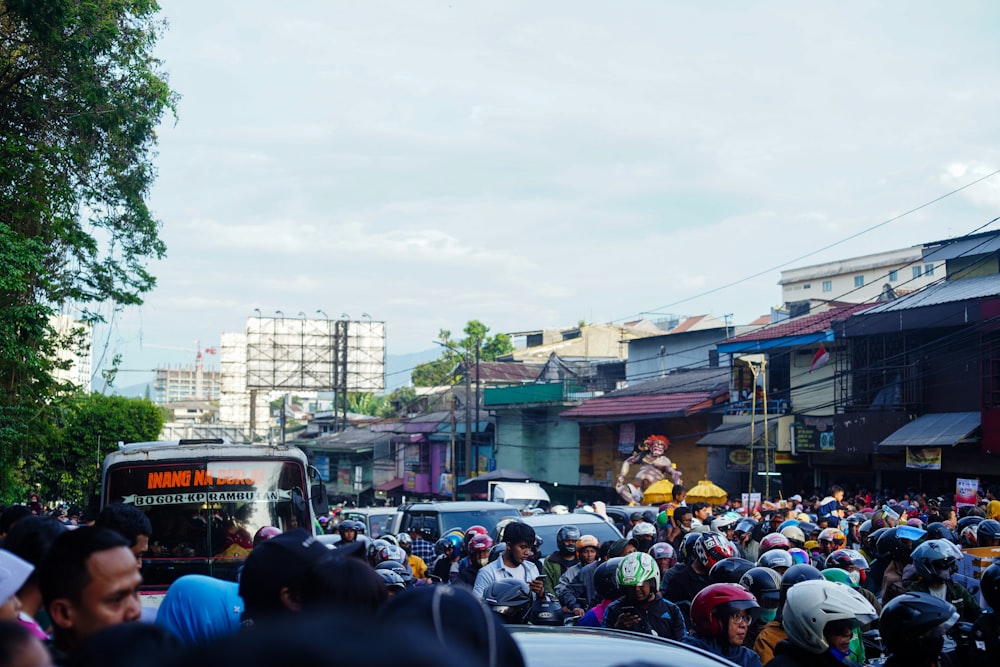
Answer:
<svg viewBox="0 0 1000 667"><path fill-rule="evenodd" d="M167 589L156 624L185 644L198 644L239 632L242 613L239 584L188 574Z"/></svg>

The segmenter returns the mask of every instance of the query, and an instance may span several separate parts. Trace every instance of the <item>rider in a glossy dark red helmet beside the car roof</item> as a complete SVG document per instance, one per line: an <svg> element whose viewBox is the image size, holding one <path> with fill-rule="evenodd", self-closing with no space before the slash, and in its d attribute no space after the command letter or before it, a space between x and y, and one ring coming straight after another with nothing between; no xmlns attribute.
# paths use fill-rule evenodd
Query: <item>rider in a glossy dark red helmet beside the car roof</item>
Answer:
<svg viewBox="0 0 1000 667"><path fill-rule="evenodd" d="M742 667L760 667L757 654L743 646L759 612L753 594L739 584L710 584L691 602L692 633L682 641Z"/></svg>

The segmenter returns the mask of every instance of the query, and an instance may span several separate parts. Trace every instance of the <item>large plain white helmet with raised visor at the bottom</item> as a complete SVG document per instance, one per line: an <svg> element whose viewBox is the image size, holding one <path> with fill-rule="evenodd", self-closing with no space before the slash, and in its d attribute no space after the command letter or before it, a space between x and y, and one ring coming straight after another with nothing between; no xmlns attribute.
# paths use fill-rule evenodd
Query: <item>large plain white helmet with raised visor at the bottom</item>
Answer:
<svg viewBox="0 0 1000 667"><path fill-rule="evenodd" d="M830 648L823 636L827 623L850 621L866 625L876 618L875 607L861 593L819 580L801 581L787 589L781 623L793 644L818 655Z"/></svg>

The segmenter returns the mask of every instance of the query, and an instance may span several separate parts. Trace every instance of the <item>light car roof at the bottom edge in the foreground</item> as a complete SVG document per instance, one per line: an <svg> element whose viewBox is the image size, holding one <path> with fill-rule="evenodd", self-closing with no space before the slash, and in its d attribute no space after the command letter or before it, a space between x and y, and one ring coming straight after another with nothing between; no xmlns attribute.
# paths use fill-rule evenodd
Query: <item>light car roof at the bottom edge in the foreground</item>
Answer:
<svg viewBox="0 0 1000 667"><path fill-rule="evenodd" d="M672 639L610 628L508 625L527 667L662 665L732 667L733 663Z"/></svg>

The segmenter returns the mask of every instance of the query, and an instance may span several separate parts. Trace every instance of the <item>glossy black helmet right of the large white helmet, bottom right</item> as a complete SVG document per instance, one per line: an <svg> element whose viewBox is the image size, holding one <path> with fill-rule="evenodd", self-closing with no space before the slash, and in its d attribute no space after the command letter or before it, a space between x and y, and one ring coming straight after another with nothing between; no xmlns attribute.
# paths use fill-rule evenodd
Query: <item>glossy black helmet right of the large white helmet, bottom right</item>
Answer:
<svg viewBox="0 0 1000 667"><path fill-rule="evenodd" d="M892 655L937 656L944 634L958 622L955 606L929 593L900 593L886 603L879 620L882 641Z"/></svg>

